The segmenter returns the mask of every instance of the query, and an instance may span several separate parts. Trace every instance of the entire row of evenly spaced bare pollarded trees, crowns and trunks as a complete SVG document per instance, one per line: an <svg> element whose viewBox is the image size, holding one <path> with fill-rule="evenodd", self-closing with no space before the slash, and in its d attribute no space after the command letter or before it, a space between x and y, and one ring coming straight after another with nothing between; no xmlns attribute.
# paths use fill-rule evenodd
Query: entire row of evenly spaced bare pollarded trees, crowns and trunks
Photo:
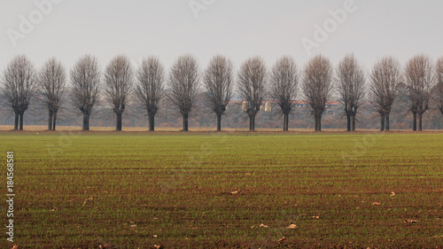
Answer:
<svg viewBox="0 0 443 249"><path fill-rule="evenodd" d="M385 57L366 74L354 54L340 60L335 70L328 58L315 56L300 73L289 56L278 59L270 70L262 58L253 57L246 59L235 74L229 58L216 55L201 72L198 60L187 54L177 58L167 74L159 58L145 58L135 70L128 57L119 55L102 75L97 58L86 55L67 76L65 67L56 58L49 59L37 71L26 56L19 55L4 69L1 97L15 114L14 129L23 129L23 114L37 94L48 111L48 129L56 129L58 110L69 99L82 113L83 130L89 130L90 115L103 96L115 113L116 129L121 130L122 115L133 96L146 111L150 130L154 130L154 117L165 97L181 113L183 130L188 130L190 113L202 91L207 107L216 116L217 130L221 130L221 117L234 96L244 100L243 110L249 117L250 130L254 130L255 117L268 99L280 107L284 130L288 130L289 116L300 91L314 118L315 130L322 129L326 105L335 97L346 114L347 130L352 131L359 107L368 101L381 117L380 129L389 130L389 115L401 87L408 92L413 129L422 130L423 115L430 108L432 96L443 113L443 58L433 64L431 58L420 54L410 58L402 68L396 58Z"/></svg>

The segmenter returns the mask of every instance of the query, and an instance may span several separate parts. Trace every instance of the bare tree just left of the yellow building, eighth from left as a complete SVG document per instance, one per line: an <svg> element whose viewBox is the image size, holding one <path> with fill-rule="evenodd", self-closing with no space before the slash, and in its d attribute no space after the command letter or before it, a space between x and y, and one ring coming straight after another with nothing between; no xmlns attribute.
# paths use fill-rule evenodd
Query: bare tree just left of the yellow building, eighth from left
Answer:
<svg viewBox="0 0 443 249"><path fill-rule="evenodd" d="M248 58L237 75L238 95L245 101L245 112L249 116L249 130L255 130L255 116L268 94L268 69L260 57Z"/></svg>

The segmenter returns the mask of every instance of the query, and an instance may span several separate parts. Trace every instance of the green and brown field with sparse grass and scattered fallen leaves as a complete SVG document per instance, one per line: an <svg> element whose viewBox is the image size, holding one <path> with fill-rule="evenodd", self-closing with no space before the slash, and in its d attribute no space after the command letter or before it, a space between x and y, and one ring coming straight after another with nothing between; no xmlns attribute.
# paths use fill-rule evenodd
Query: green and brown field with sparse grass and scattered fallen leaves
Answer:
<svg viewBox="0 0 443 249"><path fill-rule="evenodd" d="M0 248L443 245L443 134L0 139L16 194L14 243Z"/></svg>

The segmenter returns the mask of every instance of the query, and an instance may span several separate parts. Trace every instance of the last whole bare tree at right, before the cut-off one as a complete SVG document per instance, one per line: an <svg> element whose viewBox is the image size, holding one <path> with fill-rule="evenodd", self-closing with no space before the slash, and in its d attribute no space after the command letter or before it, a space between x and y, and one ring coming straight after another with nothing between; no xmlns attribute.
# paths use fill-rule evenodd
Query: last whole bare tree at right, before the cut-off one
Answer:
<svg viewBox="0 0 443 249"><path fill-rule="evenodd" d="M405 80L411 101L410 111L414 116L413 130L422 130L423 114L429 109L432 88L434 87L434 71L431 58L423 54L408 60L405 66Z"/></svg>

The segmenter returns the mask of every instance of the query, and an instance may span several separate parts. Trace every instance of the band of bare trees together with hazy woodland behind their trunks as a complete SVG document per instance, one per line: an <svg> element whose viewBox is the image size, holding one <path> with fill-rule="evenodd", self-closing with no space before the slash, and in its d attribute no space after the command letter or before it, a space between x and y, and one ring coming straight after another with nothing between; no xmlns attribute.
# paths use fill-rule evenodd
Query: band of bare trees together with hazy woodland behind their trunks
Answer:
<svg viewBox="0 0 443 249"><path fill-rule="evenodd" d="M109 126L111 119L116 130L144 125L144 120L154 130L159 114L163 126L181 120L184 131L190 125L215 124L221 130L222 124L238 127L245 122L250 130L258 125L320 131L324 124L347 131L354 131L356 124L382 131L422 130L441 128L443 58L434 62L419 54L402 66L396 58L385 57L366 71L354 54L337 66L322 55L303 67L290 56L273 66L253 57L236 71L222 55L201 68L197 58L186 54L169 70L159 58L144 58L133 66L128 57L118 55L102 71L96 57L85 55L66 72L57 58L35 68L19 55L0 77L0 97L3 120L13 122L14 129L23 129L25 118L41 123L45 117L51 130L60 122L72 125L80 119L83 130L89 130L91 120Z"/></svg>

